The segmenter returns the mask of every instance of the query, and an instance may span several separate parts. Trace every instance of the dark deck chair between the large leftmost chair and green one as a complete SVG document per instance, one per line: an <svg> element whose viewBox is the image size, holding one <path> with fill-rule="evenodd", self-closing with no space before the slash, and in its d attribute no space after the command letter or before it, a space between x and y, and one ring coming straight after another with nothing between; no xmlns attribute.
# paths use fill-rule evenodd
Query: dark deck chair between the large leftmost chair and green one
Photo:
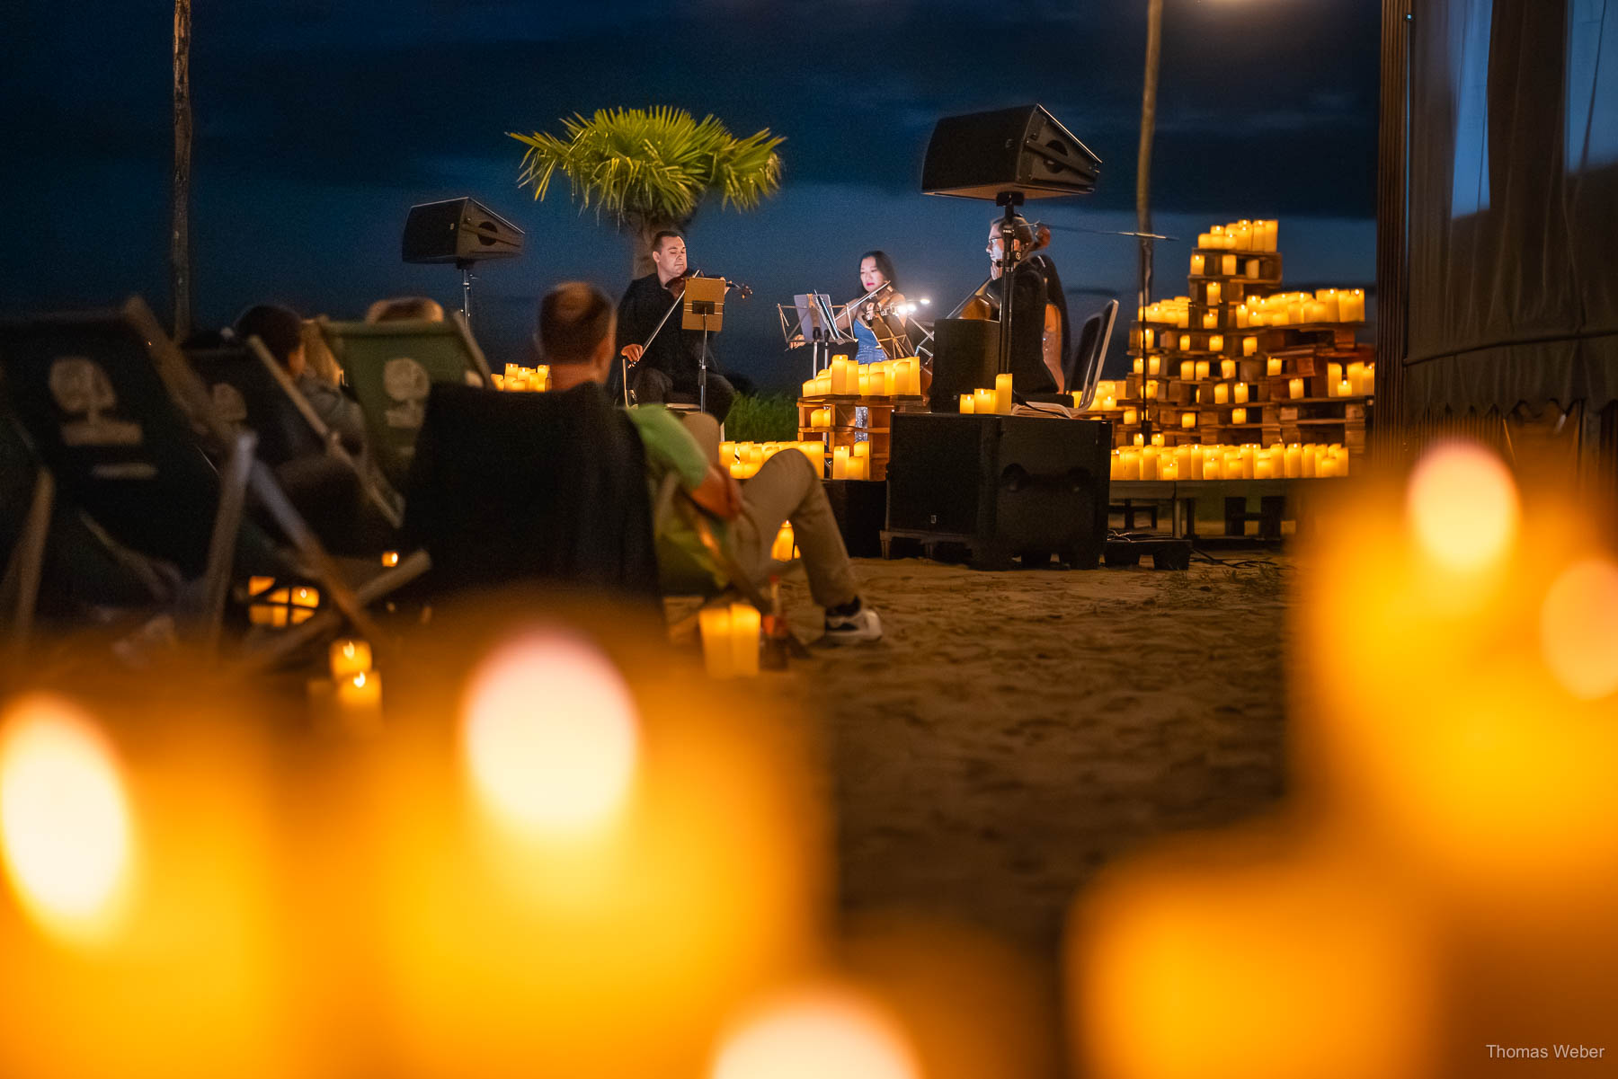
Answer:
<svg viewBox="0 0 1618 1079"><path fill-rule="evenodd" d="M282 461L322 451L348 471L361 495L382 519L398 529L404 523L395 500L361 468L341 440L320 419L309 400L275 362L264 341L189 349L191 366L209 385L214 411L233 432L243 427L259 437L259 458L272 468Z"/></svg>

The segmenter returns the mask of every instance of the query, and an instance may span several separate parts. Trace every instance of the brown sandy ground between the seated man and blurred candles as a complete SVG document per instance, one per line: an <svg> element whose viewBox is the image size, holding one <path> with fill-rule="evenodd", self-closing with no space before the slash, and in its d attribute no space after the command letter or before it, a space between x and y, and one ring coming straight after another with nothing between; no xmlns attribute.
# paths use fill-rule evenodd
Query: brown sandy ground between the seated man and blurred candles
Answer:
<svg viewBox="0 0 1618 1079"><path fill-rule="evenodd" d="M885 639L793 675L828 720L845 912L925 909L1055 963L1099 867L1283 793L1285 563L859 573Z"/></svg>

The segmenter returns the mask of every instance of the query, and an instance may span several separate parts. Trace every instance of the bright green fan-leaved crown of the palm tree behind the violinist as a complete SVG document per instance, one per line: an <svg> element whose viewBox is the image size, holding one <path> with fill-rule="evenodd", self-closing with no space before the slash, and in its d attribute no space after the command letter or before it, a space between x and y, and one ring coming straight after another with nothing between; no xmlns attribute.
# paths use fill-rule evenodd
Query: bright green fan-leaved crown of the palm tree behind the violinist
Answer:
<svg viewBox="0 0 1618 1079"><path fill-rule="evenodd" d="M560 168L579 210L595 205L616 217L634 241L634 275L652 272L652 236L684 230L709 193L720 205L751 210L781 186L783 139L769 129L744 139L714 116L683 108L599 108L561 121L563 134L511 134L527 146L518 186L544 199Z"/></svg>

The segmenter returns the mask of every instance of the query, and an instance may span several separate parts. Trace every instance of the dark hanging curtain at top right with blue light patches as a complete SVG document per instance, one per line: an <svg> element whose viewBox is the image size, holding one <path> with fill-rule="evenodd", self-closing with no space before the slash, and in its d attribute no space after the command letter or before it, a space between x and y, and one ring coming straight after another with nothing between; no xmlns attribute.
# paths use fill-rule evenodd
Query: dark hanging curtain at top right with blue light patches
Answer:
<svg viewBox="0 0 1618 1079"><path fill-rule="evenodd" d="M1618 0L1413 8L1403 419L1605 408L1618 398Z"/></svg>

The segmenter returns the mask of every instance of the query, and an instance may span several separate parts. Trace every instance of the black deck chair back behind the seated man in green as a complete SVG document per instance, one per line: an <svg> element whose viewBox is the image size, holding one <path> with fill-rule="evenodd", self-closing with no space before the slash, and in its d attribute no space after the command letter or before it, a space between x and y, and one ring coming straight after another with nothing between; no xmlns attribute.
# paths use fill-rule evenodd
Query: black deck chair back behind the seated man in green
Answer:
<svg viewBox="0 0 1618 1079"><path fill-rule="evenodd" d="M430 555L424 586L434 594L542 581L659 597L644 450L595 385L434 385L404 537Z"/></svg>

